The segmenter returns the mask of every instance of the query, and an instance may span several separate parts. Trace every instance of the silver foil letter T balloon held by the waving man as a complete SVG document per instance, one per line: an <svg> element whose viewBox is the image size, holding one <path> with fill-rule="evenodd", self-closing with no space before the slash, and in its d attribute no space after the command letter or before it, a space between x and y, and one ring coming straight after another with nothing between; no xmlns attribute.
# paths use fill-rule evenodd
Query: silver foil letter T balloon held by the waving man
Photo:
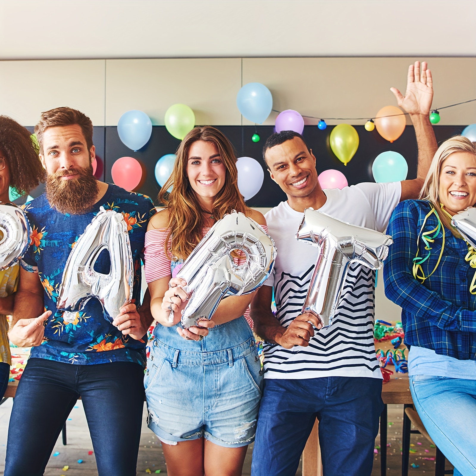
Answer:
<svg viewBox="0 0 476 476"><path fill-rule="evenodd" d="M310 312L323 327L332 325L350 263L380 269L392 237L350 225L312 208L304 210L297 239L320 248L302 314Z"/></svg>

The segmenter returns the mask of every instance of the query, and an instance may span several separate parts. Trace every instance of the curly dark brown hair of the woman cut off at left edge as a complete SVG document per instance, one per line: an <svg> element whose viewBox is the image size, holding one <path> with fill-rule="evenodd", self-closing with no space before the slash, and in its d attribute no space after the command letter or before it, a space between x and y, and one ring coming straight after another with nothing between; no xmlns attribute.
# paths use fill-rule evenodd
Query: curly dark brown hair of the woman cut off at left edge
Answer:
<svg viewBox="0 0 476 476"><path fill-rule="evenodd" d="M17 121L0 116L0 154L10 169L10 187L19 195L30 193L44 180L38 145Z"/></svg>

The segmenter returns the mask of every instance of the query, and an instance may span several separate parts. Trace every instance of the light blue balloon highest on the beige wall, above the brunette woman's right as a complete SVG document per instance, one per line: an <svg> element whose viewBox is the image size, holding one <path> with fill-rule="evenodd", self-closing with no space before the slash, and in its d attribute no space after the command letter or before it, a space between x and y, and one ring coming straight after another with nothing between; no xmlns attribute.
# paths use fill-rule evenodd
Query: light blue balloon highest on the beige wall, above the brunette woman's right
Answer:
<svg viewBox="0 0 476 476"><path fill-rule="evenodd" d="M238 91L237 106L246 119L262 124L271 112L273 97L264 84L248 83Z"/></svg>

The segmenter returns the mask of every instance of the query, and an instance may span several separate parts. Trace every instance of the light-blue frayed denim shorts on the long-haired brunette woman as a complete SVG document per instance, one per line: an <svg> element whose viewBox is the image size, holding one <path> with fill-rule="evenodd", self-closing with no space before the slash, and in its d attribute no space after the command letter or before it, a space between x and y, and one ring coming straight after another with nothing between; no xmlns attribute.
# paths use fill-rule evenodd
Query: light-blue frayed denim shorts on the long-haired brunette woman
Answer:
<svg viewBox="0 0 476 476"><path fill-rule="evenodd" d="M255 439L262 377L244 317L210 329L201 341L158 324L144 380L148 426L167 444L202 436L219 446Z"/></svg>

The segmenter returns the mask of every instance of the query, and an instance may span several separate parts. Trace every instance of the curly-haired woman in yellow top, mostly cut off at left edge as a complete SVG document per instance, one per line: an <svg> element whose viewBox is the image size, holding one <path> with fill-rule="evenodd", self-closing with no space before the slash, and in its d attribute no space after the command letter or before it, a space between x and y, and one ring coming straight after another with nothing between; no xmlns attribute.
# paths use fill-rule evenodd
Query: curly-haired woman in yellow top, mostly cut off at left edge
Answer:
<svg viewBox="0 0 476 476"><path fill-rule="evenodd" d="M24 195L36 188L43 177L38 149L30 132L13 119L0 116L0 202L10 201L9 187ZM13 312L18 277L18 264L0 271L0 400L10 375L7 315Z"/></svg>

